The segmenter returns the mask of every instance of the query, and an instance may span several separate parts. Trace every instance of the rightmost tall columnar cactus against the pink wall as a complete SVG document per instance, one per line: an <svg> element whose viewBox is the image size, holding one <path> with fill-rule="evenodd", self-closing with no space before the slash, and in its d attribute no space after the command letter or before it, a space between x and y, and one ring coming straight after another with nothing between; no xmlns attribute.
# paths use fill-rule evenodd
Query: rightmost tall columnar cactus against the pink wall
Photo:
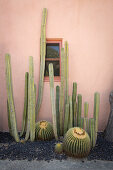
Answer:
<svg viewBox="0 0 113 170"><path fill-rule="evenodd" d="M99 93L94 94L94 127L95 127L95 133L96 133L96 139L97 139L97 132L98 132L98 117L99 117L99 104L100 104L100 95Z"/></svg>

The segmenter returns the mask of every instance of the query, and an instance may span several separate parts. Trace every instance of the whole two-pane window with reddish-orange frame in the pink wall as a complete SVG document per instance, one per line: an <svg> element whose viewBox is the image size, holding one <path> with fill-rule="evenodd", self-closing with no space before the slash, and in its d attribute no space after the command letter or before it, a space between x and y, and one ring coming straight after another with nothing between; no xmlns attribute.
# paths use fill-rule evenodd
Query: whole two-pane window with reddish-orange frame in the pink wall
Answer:
<svg viewBox="0 0 113 170"><path fill-rule="evenodd" d="M45 57L45 80L49 81L49 64L53 64L54 79L60 79L60 61L61 61L61 40L46 41L46 57Z"/></svg>

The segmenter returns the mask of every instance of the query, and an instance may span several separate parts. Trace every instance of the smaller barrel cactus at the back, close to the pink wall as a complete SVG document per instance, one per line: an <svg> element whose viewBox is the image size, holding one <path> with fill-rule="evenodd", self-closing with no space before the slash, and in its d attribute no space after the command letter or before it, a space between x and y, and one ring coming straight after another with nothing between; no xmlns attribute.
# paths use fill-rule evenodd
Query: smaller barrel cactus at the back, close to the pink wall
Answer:
<svg viewBox="0 0 113 170"><path fill-rule="evenodd" d="M40 140L51 140L54 138L53 126L45 120L39 121L35 126L35 138Z"/></svg>

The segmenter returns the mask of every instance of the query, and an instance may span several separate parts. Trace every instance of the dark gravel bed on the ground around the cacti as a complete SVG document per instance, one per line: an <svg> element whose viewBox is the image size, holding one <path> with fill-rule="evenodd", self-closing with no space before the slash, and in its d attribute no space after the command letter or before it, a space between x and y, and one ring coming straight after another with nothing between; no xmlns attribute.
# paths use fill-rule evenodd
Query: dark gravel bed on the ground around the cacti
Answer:
<svg viewBox="0 0 113 170"><path fill-rule="evenodd" d="M68 157L54 152L56 141L35 141L16 143L7 132L0 132L0 160L65 160ZM113 143L103 138L103 133L98 133L96 146L91 150L88 160L113 161Z"/></svg>

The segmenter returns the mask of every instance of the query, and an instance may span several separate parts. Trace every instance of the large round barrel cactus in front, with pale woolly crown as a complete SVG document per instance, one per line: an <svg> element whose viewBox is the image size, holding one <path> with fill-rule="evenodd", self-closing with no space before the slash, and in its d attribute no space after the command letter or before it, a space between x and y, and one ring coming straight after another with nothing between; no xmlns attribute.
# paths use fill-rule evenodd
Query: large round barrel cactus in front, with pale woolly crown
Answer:
<svg viewBox="0 0 113 170"><path fill-rule="evenodd" d="M82 128L70 128L65 134L63 146L70 156L86 157L90 152L90 137Z"/></svg>

